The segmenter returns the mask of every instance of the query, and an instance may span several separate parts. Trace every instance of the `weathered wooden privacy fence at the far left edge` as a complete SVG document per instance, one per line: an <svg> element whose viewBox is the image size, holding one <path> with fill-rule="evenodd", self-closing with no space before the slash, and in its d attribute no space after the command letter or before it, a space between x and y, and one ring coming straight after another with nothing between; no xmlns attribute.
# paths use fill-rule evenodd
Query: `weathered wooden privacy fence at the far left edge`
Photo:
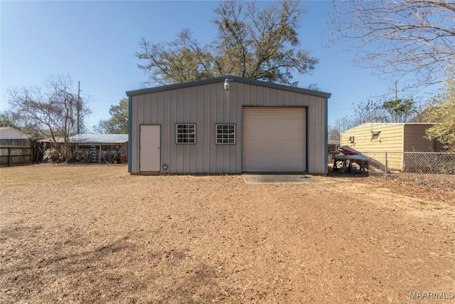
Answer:
<svg viewBox="0 0 455 304"><path fill-rule="evenodd" d="M30 164L34 162L35 141L31 140L1 140L0 165L10 167L16 164Z"/></svg>

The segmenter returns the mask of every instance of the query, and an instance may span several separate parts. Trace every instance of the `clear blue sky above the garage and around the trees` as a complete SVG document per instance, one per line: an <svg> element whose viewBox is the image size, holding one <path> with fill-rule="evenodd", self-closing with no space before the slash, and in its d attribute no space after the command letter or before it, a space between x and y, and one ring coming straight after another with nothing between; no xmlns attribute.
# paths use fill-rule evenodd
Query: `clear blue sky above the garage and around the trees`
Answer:
<svg viewBox="0 0 455 304"><path fill-rule="evenodd" d="M125 91L144 87L144 75L134 56L141 37L172 41L190 28L200 43L213 41L210 22L218 1L1 1L0 110L8 110L6 90L42 85L51 75L69 74L74 92L80 81L82 97L90 96L87 126L109 118L109 107ZM259 5L271 1L259 1ZM310 75L294 74L299 87L316 83L332 93L328 124L352 115L353 104L387 93L394 98L392 79L353 66L355 53L325 48L332 1L304 1L307 9L299 28L301 47L319 58ZM400 86L400 83L398 84ZM156 85L146 85L156 86ZM400 93L399 93L400 94Z"/></svg>

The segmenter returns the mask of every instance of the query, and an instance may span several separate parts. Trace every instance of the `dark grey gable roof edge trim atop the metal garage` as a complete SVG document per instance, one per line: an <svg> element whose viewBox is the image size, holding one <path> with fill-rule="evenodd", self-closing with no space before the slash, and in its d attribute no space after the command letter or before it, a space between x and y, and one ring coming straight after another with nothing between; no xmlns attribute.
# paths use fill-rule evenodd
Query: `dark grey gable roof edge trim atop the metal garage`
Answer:
<svg viewBox="0 0 455 304"><path fill-rule="evenodd" d="M164 90L175 90L175 89L179 89L179 88L193 87L196 85L207 85L210 83L220 83L221 88L223 88L223 83L224 83L225 79L228 79L231 82L247 83L250 85L260 85L260 86L267 87L267 88L288 90L291 92L304 93L306 95L314 95L314 96L319 96L319 97L323 97L323 98L331 97L331 93L321 92L321 91L317 91L317 90L309 90L309 89L304 89L304 88L297 88L297 87L293 87L291 85L281 85L278 83L269 83L267 81L255 80L255 79L251 79L251 78L242 78L242 77L237 77L237 76L232 76L232 75L227 75L227 76L222 76L222 77L217 77L217 78L208 78L208 79L203 79L203 80L188 81L187 83L174 83L172 85L161 85L161 86L155 87L155 88L130 90L130 91L127 91L127 96L131 97L131 96L136 96L136 95L161 92Z"/></svg>

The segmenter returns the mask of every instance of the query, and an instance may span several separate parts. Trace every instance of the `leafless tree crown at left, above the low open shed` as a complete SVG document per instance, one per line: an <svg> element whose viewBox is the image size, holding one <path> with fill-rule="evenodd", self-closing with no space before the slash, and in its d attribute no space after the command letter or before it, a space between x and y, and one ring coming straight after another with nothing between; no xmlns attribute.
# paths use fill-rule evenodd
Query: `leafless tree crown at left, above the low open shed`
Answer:
<svg viewBox="0 0 455 304"><path fill-rule="evenodd" d="M85 101L71 93L72 87L69 75L55 76L46 80L43 87L11 89L7 98L18 120L33 125L53 142L61 137L68 144L68 137L75 133L77 119L83 125L84 118L90 114Z"/></svg>

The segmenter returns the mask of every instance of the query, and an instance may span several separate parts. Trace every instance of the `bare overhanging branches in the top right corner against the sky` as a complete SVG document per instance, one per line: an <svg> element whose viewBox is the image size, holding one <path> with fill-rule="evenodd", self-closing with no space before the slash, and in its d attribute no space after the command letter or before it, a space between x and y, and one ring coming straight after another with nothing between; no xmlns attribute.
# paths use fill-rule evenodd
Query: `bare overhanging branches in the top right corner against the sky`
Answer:
<svg viewBox="0 0 455 304"><path fill-rule="evenodd" d="M421 86L444 80L455 60L455 1L348 0L334 7L331 46L349 43L359 63L394 77L413 75Z"/></svg>

